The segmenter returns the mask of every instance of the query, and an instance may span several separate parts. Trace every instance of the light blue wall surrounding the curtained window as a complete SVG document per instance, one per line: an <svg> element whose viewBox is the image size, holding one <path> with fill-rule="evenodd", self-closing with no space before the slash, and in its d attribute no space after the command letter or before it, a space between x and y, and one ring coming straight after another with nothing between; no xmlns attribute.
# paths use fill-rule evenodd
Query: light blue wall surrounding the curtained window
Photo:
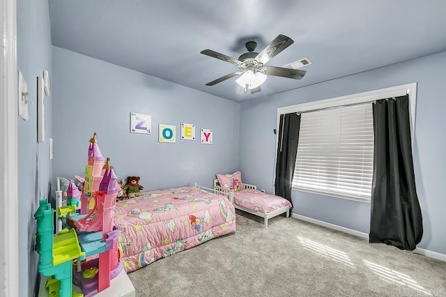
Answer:
<svg viewBox="0 0 446 297"><path fill-rule="evenodd" d="M446 254L446 52L279 93L242 105L240 170L243 181L272 192L277 107L417 82L414 166L424 236L419 248ZM311 75L311 66L307 69ZM305 79L305 77L303 78ZM254 149L255 148L255 149ZM370 204L293 191L293 212L369 232Z"/></svg>

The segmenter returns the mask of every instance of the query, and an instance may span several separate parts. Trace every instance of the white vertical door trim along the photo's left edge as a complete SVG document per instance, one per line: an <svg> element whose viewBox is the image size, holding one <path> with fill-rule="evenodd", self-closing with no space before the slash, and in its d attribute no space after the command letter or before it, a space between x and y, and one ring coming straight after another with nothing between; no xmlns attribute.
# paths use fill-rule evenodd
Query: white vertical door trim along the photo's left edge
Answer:
<svg viewBox="0 0 446 297"><path fill-rule="evenodd" d="M0 296L19 296L17 190L16 0L1 0L3 58L0 62Z"/></svg>

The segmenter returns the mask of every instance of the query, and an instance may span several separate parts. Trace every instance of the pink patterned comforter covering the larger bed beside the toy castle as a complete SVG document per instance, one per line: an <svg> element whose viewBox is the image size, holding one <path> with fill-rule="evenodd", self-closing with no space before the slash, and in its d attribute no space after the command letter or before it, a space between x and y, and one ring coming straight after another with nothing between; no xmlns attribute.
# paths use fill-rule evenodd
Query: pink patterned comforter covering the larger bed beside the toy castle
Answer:
<svg viewBox="0 0 446 297"><path fill-rule="evenodd" d="M114 224L120 230L125 271L236 231L235 214L226 197L194 187L155 190L116 202Z"/></svg>

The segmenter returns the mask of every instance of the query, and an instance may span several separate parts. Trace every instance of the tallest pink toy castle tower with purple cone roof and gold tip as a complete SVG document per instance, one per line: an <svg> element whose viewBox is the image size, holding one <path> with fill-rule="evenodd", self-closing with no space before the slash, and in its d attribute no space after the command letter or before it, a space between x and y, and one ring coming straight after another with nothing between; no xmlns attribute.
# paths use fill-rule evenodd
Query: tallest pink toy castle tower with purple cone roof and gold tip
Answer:
<svg viewBox="0 0 446 297"><path fill-rule="evenodd" d="M85 181L82 189L81 198L81 214L86 214L89 208L89 198L99 188L102 180L102 167L105 165L105 157L100 151L98 141L96 140L96 132L90 139L89 144L89 164L85 167Z"/></svg>

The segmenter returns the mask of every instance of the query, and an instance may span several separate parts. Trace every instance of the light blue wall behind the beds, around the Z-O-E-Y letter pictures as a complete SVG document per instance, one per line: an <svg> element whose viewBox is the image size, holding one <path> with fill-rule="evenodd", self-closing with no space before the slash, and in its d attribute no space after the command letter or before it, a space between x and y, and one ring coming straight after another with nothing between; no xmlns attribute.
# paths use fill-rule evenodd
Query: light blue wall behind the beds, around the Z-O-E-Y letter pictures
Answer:
<svg viewBox="0 0 446 297"><path fill-rule="evenodd" d="M199 183L238 169L240 104L111 63L53 47L54 178L84 175L89 139L118 178L141 176L145 190ZM130 133L130 112L152 116L152 134ZM195 141L180 140L180 123L197 125ZM176 144L157 140L158 124L176 125ZM213 130L200 144L199 128Z"/></svg>

